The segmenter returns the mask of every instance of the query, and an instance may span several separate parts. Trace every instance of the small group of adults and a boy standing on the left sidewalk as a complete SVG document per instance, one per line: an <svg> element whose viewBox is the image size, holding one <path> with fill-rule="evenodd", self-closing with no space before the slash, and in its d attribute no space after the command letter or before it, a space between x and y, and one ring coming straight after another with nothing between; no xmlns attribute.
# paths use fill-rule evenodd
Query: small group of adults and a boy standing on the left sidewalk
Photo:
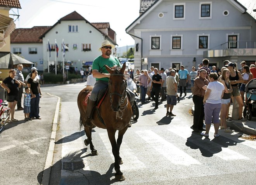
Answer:
<svg viewBox="0 0 256 185"><path fill-rule="evenodd" d="M6 100L10 108L10 119L7 122L18 121L14 118L15 107L17 110L23 110L24 120L41 119L39 115L39 102L42 97L40 90L40 77L38 76L38 69L31 68L31 73L24 78L22 74L23 65L18 64L17 70L10 69L9 76L5 78L1 86L7 90ZM41 75L42 78L42 75ZM25 87L24 102L22 107L22 93Z"/></svg>

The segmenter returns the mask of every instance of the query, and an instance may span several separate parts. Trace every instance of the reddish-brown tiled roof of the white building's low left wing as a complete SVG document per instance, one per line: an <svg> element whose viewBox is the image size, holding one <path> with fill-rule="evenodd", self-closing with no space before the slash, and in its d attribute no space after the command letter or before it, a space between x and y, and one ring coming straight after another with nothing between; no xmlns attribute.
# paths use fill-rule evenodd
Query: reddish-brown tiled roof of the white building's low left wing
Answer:
<svg viewBox="0 0 256 185"><path fill-rule="evenodd" d="M10 35L10 43L43 43L39 37L52 26L34 26L18 28Z"/></svg>

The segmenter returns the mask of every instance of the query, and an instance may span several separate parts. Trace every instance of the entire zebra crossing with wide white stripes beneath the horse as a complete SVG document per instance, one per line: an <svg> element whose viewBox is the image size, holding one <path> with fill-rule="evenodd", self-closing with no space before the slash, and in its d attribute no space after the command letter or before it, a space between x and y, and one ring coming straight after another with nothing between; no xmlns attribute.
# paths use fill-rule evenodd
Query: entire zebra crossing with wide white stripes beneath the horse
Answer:
<svg viewBox="0 0 256 185"><path fill-rule="evenodd" d="M209 162L212 160L213 162L218 161L218 163L230 163L231 166L237 161L243 161L245 165L251 161L256 161L256 156L253 155L256 153L256 142L243 140L239 138L237 133L230 135L220 130L220 137L214 138L214 128L212 127L209 133L210 137L205 138L191 131L188 125L168 126L162 128L160 131L154 128L147 130L129 128L129 134L123 138L120 149L120 156L124 162L121 165L121 170L123 173L128 171L151 170L150 168L152 166L149 166L150 161L154 161L152 165L159 162L159 164L166 163L169 166L176 166L175 168L206 168L209 171L211 169L209 169L205 161ZM86 147L83 143L85 138L86 136L83 135L71 142L64 142L62 144L62 157L78 149L87 149L80 156L84 161L85 168L79 170L80 172L76 175L79 176L82 173L85 176L91 176L90 171L101 171L99 167L102 168L102 173L104 173L105 168L114 162L112 147L106 130L95 128L92 138L95 149L98 150L99 156L102 156L104 160L106 159L107 165L102 163L102 158L99 156L90 155L90 147ZM245 150L250 152L244 152ZM255 165L255 162L253 163ZM229 165L227 166L230 167ZM244 169L245 166L239 168L240 171ZM222 174L227 173L229 170L217 171L214 169L212 171L215 174ZM63 178L70 175L74 176L74 173L62 170Z"/></svg>

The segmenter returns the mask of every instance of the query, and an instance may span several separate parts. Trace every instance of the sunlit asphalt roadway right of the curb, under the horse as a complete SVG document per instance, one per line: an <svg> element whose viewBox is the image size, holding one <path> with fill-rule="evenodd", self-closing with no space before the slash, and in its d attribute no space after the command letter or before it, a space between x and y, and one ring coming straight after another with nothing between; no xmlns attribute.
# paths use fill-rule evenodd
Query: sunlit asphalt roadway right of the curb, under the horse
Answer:
<svg viewBox="0 0 256 185"><path fill-rule="evenodd" d="M79 129L76 97L86 83L42 88L62 98L59 130L55 144L50 184L61 185L170 185L170 184L254 184L256 142L240 138L242 133L219 131L220 137L205 138L192 133L191 97L181 100L166 116L166 102L154 110L154 104L141 105L140 117L128 128L120 149L126 180L114 180L114 157L106 130L95 128L93 144L98 156L83 144ZM191 95L191 93L188 93ZM80 170L61 170L62 162L83 161Z"/></svg>

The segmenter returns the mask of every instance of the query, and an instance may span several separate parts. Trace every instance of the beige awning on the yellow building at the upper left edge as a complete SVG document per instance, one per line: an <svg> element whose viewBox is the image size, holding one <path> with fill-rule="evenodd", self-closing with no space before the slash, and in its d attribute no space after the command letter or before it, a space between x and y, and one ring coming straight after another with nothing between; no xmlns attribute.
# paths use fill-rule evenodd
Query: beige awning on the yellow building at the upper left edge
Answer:
<svg viewBox="0 0 256 185"><path fill-rule="evenodd" d="M0 48L5 45L5 38L9 36L15 29L12 18L0 14Z"/></svg>

